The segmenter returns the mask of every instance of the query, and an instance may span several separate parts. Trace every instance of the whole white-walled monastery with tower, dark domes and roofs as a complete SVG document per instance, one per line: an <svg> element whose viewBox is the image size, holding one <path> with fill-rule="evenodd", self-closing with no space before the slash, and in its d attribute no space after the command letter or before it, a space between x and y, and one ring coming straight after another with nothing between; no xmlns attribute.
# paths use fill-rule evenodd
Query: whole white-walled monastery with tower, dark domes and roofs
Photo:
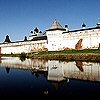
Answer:
<svg viewBox="0 0 100 100"><path fill-rule="evenodd" d="M8 40L7 40L8 39ZM44 33L36 27L29 38L23 41L11 42L9 36L0 43L0 54L32 53L38 51L61 51L68 49L99 49L100 23L95 27L86 28L83 23L78 30L69 30L68 25L63 28L55 19Z"/></svg>

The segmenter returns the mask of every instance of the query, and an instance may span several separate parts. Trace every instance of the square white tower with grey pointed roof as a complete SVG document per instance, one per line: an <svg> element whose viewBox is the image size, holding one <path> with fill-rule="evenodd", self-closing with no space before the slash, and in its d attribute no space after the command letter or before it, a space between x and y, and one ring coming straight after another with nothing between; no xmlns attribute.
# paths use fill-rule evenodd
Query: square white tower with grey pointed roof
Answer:
<svg viewBox="0 0 100 100"><path fill-rule="evenodd" d="M62 28L57 20L53 22L50 29L46 30L48 51L63 50L63 32L66 32L66 29Z"/></svg>

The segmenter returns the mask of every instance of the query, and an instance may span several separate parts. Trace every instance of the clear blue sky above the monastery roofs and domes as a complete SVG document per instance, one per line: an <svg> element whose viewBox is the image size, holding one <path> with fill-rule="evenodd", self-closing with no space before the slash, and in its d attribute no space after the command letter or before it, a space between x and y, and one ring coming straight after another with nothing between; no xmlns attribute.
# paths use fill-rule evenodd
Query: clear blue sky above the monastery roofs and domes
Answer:
<svg viewBox="0 0 100 100"><path fill-rule="evenodd" d="M6 35L22 41L36 27L44 32L57 19L64 28L95 27L100 22L100 0L0 0L0 42Z"/></svg>

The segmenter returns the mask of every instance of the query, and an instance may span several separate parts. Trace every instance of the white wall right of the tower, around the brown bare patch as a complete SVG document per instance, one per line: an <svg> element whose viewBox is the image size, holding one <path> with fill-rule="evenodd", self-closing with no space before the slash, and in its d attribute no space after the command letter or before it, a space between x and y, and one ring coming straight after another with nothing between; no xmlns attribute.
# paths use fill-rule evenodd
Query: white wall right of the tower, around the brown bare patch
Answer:
<svg viewBox="0 0 100 100"><path fill-rule="evenodd" d="M100 43L100 29L64 33L62 43L64 48L75 49L80 39L83 39L82 49L97 49Z"/></svg>

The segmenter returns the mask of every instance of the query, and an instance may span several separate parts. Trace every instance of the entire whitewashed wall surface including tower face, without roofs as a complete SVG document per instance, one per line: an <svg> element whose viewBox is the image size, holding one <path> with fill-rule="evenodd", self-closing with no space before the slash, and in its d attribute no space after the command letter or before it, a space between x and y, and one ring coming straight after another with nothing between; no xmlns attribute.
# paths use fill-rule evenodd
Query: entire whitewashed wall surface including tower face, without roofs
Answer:
<svg viewBox="0 0 100 100"><path fill-rule="evenodd" d="M60 51L64 48L75 49L75 45L80 39L83 39L82 49L97 49L99 46L100 29L66 32L64 34L63 32L61 30L47 31L47 40L0 44L1 53L29 53L43 48L48 48L48 51Z"/></svg>

